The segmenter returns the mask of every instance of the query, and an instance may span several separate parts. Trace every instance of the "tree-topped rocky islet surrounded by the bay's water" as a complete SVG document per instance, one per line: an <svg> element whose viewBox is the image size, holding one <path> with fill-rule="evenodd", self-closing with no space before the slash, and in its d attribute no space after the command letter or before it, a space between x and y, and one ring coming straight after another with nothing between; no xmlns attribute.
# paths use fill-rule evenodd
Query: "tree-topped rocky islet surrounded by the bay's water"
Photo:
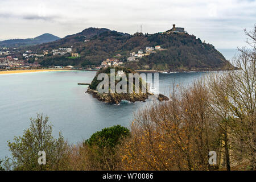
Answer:
<svg viewBox="0 0 256 182"><path fill-rule="evenodd" d="M114 69L115 77L118 77L114 80L114 90L112 90L111 86L111 74L110 71ZM122 71L122 75L118 75L118 71ZM108 78L103 78L104 80L98 80L98 76L101 73L105 73ZM139 77L138 75L138 82L137 78L134 77L133 82L129 81L129 74L132 73L133 75L136 74L132 69L130 68L123 68L123 67L108 67L108 68L101 68L101 70L97 73L97 75L93 78L92 83L89 85L87 93L90 93L93 95L93 97L97 98L99 101L111 103L111 104L119 104L122 100L130 101L130 102L136 102L136 101L146 101L149 96L154 95L154 93L151 93L149 90L149 86L146 83L145 80L143 80L142 77ZM106 81L105 79L108 79L108 85L100 85L102 81ZM137 84L136 84L137 82ZM131 85L132 92L129 90L129 85ZM100 93L98 92L98 87L100 89L104 88L105 86L108 86L107 93ZM119 86L119 87L118 87ZM123 86L126 86L123 87ZM117 92L117 87L121 89L121 93ZM169 98L164 96L163 94L158 95L159 101L168 101Z"/></svg>

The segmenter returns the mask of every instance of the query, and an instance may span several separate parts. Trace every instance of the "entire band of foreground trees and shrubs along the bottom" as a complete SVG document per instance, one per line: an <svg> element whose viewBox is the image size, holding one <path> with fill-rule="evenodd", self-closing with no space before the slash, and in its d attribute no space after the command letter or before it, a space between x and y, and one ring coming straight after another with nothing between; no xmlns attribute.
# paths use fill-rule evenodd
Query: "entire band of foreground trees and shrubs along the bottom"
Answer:
<svg viewBox="0 0 256 182"><path fill-rule="evenodd" d="M255 27L256 30L256 27ZM256 32L234 59L237 71L211 73L189 87L174 83L170 101L134 114L129 130L104 129L75 146L52 137L48 118L9 142L14 170L256 170ZM46 166L38 151L45 150ZM217 163L209 164L209 151Z"/></svg>

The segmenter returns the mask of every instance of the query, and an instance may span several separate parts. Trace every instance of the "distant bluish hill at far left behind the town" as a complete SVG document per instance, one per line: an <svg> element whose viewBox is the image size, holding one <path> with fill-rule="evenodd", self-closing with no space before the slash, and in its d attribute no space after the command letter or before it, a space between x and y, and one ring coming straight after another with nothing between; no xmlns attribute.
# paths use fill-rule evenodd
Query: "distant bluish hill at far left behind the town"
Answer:
<svg viewBox="0 0 256 182"><path fill-rule="evenodd" d="M0 42L0 46L5 46L5 47L32 46L32 45L52 42L58 39L60 38L55 35L43 34L32 39L3 40L2 42Z"/></svg>

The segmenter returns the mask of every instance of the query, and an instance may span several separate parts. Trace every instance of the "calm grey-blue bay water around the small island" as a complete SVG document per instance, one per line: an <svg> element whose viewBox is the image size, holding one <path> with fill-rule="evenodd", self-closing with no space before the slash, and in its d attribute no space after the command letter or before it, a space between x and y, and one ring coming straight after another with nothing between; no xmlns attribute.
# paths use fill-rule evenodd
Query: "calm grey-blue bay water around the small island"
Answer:
<svg viewBox="0 0 256 182"><path fill-rule="evenodd" d="M160 93L168 95L172 82L191 84L201 73L159 74ZM95 131L113 125L129 127L134 111L152 101L110 105L85 93L96 72L61 71L0 75L0 159L10 156L7 141L23 134L29 118L47 114L53 134L63 132L70 143L81 142Z"/></svg>

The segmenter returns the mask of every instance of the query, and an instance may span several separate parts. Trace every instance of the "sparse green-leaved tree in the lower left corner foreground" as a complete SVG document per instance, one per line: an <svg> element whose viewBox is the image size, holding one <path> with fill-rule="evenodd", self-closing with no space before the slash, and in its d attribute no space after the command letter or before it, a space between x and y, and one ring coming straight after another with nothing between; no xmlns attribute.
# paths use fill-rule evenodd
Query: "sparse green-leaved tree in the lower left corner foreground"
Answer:
<svg viewBox="0 0 256 182"><path fill-rule="evenodd" d="M67 143L59 133L59 138L52 136L52 125L49 118L38 114L30 119L30 128L24 131L22 137L14 137L9 142L9 150L15 170L57 170L67 155ZM38 152L46 152L46 165L38 164Z"/></svg>

